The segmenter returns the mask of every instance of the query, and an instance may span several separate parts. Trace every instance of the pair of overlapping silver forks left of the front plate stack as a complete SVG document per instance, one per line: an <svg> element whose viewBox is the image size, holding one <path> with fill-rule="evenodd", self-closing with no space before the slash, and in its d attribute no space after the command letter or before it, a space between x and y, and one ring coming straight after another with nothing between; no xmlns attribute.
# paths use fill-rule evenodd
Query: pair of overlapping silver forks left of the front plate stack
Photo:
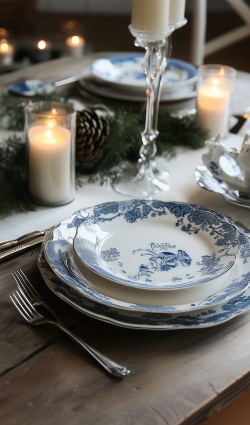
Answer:
<svg viewBox="0 0 250 425"><path fill-rule="evenodd" d="M10 295L10 299L18 313L28 324L31 326L52 324L69 336L79 348L94 358L97 363L112 376L124 378L130 374L130 370L127 367L114 362L98 352L63 326L53 310L51 310L47 303L41 298L21 269L13 271L12 276L16 283L17 290ZM41 312L40 307L43 308L44 313ZM53 319L49 318L48 315L52 316Z"/></svg>

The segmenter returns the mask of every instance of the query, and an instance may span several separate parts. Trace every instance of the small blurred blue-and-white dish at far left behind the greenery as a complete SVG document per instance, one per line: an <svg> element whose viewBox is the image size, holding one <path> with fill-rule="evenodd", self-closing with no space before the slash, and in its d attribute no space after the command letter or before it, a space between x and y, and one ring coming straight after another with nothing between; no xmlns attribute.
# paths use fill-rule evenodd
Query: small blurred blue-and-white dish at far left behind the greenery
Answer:
<svg viewBox="0 0 250 425"><path fill-rule="evenodd" d="M26 79L16 84L10 84L8 90L21 96L35 96L37 94L53 93L55 86L51 82L44 82L39 79Z"/></svg>

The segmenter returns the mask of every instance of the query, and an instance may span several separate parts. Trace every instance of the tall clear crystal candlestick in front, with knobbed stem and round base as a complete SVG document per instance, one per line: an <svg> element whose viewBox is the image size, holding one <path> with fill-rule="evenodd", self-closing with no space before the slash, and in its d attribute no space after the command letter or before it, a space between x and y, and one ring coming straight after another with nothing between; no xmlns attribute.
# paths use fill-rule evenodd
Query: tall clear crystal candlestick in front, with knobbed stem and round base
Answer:
<svg viewBox="0 0 250 425"><path fill-rule="evenodd" d="M141 132L139 169L130 165L120 173L119 181L113 183L114 190L119 193L150 197L170 188L168 173L156 170L153 158L157 151L155 140L158 136L157 121L162 75L169 57L168 37L173 29L173 26L169 26L166 32L148 33L135 30L129 25L129 30L135 37L134 45L145 49L141 66L145 75L146 112L145 127Z"/></svg>

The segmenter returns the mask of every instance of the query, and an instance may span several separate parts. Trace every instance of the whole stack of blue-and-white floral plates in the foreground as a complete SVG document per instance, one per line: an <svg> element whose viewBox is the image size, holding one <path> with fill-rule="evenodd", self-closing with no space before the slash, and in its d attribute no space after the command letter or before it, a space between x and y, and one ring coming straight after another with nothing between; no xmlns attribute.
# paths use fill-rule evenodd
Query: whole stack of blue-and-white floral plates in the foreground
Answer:
<svg viewBox="0 0 250 425"><path fill-rule="evenodd" d="M78 310L129 328L207 327L250 309L250 239L183 202L83 208L41 248L47 286Z"/></svg>

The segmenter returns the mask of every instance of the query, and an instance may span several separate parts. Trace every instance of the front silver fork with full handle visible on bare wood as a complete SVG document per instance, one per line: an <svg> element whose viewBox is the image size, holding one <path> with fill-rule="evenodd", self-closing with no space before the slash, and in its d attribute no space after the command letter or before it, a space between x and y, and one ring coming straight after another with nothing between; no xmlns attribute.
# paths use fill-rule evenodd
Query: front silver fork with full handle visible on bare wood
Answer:
<svg viewBox="0 0 250 425"><path fill-rule="evenodd" d="M45 323L53 324L62 330L66 335L68 335L85 352L90 354L90 356L92 356L112 376L123 378L130 374L130 370L127 367L115 363L94 348L90 347L58 321L50 320L40 314L35 306L32 305L32 303L29 301L23 290L17 289L15 293L12 294L12 296L10 295L10 299L16 310L28 324L32 326L38 326Z"/></svg>

